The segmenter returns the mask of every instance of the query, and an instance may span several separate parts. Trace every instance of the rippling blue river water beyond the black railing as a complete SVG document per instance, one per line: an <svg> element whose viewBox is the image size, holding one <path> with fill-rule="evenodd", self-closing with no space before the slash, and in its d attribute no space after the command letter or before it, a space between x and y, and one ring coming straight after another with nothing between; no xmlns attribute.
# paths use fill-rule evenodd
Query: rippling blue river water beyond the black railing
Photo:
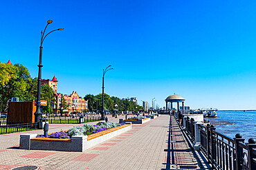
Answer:
<svg viewBox="0 0 256 170"><path fill-rule="evenodd" d="M216 131L235 138L241 134L248 142L249 138L256 139L256 111L217 111L217 118L205 118L216 127Z"/></svg>

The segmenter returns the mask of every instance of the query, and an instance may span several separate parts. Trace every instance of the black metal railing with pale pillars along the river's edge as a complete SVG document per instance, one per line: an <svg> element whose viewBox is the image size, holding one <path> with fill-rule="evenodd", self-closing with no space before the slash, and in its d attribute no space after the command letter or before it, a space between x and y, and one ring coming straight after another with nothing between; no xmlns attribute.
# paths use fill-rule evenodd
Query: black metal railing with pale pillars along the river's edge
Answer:
<svg viewBox="0 0 256 170"><path fill-rule="evenodd" d="M179 115L181 114L181 115ZM250 138L244 142L241 134L230 138L216 131L213 125L195 122L182 113L174 114L177 121L182 122L181 128L188 132L194 149L200 150L212 169L255 170L256 140ZM183 120L183 121L181 121Z"/></svg>

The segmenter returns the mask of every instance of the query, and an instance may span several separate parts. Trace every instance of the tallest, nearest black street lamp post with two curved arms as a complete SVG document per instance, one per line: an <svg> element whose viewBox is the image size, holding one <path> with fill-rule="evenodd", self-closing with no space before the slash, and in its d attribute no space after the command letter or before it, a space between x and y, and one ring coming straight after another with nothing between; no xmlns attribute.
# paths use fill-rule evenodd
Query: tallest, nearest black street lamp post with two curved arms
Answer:
<svg viewBox="0 0 256 170"><path fill-rule="evenodd" d="M48 20L46 28L50 23L53 23L53 21ZM46 28L44 28L44 32L46 31ZM51 34L52 32L55 32L55 31L58 31L58 30L64 30L64 28L59 28L59 29L53 30L51 32L48 32L48 34ZM40 119L42 118L41 101L40 101L40 98L41 98L42 67L43 67L43 65L42 65L42 50L43 50L42 45L43 45L44 39L46 38L46 36L48 36L48 34L46 34L46 36L44 36L44 32L43 31L41 32L41 44L40 44L40 47L39 47L40 48L40 51L39 51L39 65L37 65L39 67L39 70L38 70L38 80L37 80L37 110L35 111L35 123L39 123Z"/></svg>

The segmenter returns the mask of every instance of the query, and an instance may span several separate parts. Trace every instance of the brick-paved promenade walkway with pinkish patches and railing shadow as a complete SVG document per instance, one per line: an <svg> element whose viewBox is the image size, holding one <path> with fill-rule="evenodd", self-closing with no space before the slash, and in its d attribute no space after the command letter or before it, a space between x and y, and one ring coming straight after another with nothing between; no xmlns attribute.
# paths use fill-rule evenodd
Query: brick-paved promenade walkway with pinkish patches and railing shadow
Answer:
<svg viewBox="0 0 256 170"><path fill-rule="evenodd" d="M109 116L109 121L118 122ZM95 123L93 123L95 124ZM50 132L74 125L50 125ZM77 126L77 125L75 125ZM0 135L0 169L34 165L40 169L200 169L173 116L161 115L84 152L19 149L20 134Z"/></svg>

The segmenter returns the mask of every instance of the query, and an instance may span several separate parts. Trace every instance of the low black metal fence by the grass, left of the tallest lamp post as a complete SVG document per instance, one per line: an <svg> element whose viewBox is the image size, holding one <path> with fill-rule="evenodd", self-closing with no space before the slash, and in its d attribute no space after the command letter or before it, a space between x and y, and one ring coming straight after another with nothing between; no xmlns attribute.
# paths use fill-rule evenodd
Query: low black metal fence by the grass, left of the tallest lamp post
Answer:
<svg viewBox="0 0 256 170"><path fill-rule="evenodd" d="M0 127L0 134L10 134L20 131L30 131L37 129L37 123L19 123L12 125L3 125Z"/></svg>

